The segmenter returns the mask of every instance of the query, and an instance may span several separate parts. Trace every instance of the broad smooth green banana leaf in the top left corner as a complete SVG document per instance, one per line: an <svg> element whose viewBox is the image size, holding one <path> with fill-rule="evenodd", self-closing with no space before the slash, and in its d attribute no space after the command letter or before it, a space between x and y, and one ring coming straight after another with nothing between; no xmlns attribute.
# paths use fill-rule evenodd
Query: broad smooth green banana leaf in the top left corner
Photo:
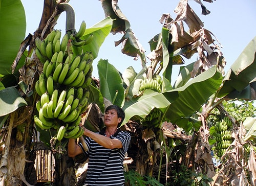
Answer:
<svg viewBox="0 0 256 186"><path fill-rule="evenodd" d="M25 10L20 0L0 1L0 74L11 74L11 65L25 33ZM16 69L22 65L20 62Z"/></svg>

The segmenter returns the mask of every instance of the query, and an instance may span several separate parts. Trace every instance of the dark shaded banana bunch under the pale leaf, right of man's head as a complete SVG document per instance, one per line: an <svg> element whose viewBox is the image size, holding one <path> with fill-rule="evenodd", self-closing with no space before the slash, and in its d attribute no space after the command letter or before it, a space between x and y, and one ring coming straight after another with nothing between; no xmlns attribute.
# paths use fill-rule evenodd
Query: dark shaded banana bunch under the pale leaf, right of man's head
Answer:
<svg viewBox="0 0 256 186"><path fill-rule="evenodd" d="M158 108L154 108L148 115L146 115L144 119L140 121L140 123L147 128L159 128L161 127L161 116L161 110L159 110Z"/></svg>

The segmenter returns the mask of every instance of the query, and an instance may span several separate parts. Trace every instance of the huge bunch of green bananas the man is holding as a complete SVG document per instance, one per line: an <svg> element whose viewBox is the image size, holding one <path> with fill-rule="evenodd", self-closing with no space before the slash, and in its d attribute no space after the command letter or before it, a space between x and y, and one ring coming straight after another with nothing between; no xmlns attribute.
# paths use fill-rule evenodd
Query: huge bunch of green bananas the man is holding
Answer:
<svg viewBox="0 0 256 186"><path fill-rule="evenodd" d="M41 129L57 130L59 141L63 137L77 138L83 134L79 123L88 107L87 87L92 79L93 55L83 52L75 56L73 45L80 47L76 38L81 37L84 30L82 22L73 38L66 33L60 41L61 32L54 30L45 40L35 40L36 55L44 66L35 83L40 99L36 103L38 113L34 121Z"/></svg>

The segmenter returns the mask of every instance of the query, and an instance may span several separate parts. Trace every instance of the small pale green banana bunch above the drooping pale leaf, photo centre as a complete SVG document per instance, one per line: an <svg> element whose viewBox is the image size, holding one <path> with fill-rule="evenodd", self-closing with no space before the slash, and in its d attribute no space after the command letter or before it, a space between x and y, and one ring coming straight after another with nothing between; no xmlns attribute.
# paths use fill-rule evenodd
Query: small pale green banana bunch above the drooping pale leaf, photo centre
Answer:
<svg viewBox="0 0 256 186"><path fill-rule="evenodd" d="M162 79L159 75L156 76L156 78L153 79L144 79L140 84L140 91L143 91L145 89L153 89L157 92L161 92L161 86L162 86Z"/></svg>

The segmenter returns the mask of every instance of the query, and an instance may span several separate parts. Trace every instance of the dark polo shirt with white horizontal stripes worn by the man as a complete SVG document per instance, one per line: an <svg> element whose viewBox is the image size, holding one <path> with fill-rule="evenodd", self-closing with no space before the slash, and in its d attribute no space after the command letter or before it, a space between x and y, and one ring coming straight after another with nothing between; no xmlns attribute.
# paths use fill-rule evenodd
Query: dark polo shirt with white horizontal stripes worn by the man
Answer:
<svg viewBox="0 0 256 186"><path fill-rule="evenodd" d="M105 135L104 131L105 128L98 133ZM81 147L83 153L86 156L89 155L86 185L124 185L123 161L131 141L131 135L128 132L118 129L114 135L110 136L110 138L119 139L122 143L122 148L104 148L90 137L84 138L88 146L88 151L83 149L81 143L78 144Z"/></svg>

